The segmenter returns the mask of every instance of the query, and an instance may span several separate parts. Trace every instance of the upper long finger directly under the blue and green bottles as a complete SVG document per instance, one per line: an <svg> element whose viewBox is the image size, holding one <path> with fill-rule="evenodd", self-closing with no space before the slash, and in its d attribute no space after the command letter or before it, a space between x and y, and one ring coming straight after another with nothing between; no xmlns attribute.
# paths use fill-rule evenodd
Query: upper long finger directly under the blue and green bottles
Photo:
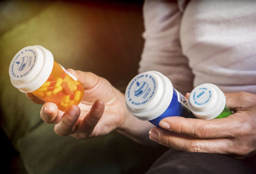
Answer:
<svg viewBox="0 0 256 174"><path fill-rule="evenodd" d="M159 126L173 133L186 134L196 138L234 137L243 126L243 117L226 117L223 119L202 120L184 117L166 117Z"/></svg>

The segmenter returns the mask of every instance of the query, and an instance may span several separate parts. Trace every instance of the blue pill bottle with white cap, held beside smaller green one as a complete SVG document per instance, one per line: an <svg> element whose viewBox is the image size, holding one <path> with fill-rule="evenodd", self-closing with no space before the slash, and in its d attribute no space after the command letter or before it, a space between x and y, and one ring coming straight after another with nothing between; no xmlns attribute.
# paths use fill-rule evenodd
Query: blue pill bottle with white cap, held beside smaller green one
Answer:
<svg viewBox="0 0 256 174"><path fill-rule="evenodd" d="M172 82L158 71L134 76L125 90L128 111L140 120L159 127L164 117L195 118L189 111L188 99L173 88Z"/></svg>

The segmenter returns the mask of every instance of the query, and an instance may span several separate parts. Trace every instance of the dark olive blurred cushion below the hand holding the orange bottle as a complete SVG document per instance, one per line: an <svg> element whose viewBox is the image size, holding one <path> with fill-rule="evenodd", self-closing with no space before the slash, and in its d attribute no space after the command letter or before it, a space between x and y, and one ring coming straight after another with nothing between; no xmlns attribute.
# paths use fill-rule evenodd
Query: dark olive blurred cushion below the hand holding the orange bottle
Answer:
<svg viewBox="0 0 256 174"><path fill-rule="evenodd" d="M159 149L143 147L118 133L76 140L60 137L42 124L19 140L28 173L145 173Z"/></svg>

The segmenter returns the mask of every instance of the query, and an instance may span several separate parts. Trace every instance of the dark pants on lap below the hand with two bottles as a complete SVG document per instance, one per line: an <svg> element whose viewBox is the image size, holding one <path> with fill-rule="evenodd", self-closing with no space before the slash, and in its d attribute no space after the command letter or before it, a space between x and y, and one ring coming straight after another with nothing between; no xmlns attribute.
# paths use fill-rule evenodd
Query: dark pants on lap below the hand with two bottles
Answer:
<svg viewBox="0 0 256 174"><path fill-rule="evenodd" d="M256 163L253 166L253 161L255 158L241 160L220 154L180 152L169 149L157 159L147 174L256 173Z"/></svg>

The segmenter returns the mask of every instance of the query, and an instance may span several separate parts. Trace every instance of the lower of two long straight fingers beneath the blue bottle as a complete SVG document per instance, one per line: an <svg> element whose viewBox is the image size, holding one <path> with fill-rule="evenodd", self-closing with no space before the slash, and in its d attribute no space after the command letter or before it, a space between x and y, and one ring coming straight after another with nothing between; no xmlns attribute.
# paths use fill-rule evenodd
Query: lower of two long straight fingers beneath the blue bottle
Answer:
<svg viewBox="0 0 256 174"><path fill-rule="evenodd" d="M173 147L174 149L188 152L229 154L232 153L233 149L232 141L225 138L202 140L170 133L159 127L152 128L149 135L151 140L157 141L166 147Z"/></svg>

